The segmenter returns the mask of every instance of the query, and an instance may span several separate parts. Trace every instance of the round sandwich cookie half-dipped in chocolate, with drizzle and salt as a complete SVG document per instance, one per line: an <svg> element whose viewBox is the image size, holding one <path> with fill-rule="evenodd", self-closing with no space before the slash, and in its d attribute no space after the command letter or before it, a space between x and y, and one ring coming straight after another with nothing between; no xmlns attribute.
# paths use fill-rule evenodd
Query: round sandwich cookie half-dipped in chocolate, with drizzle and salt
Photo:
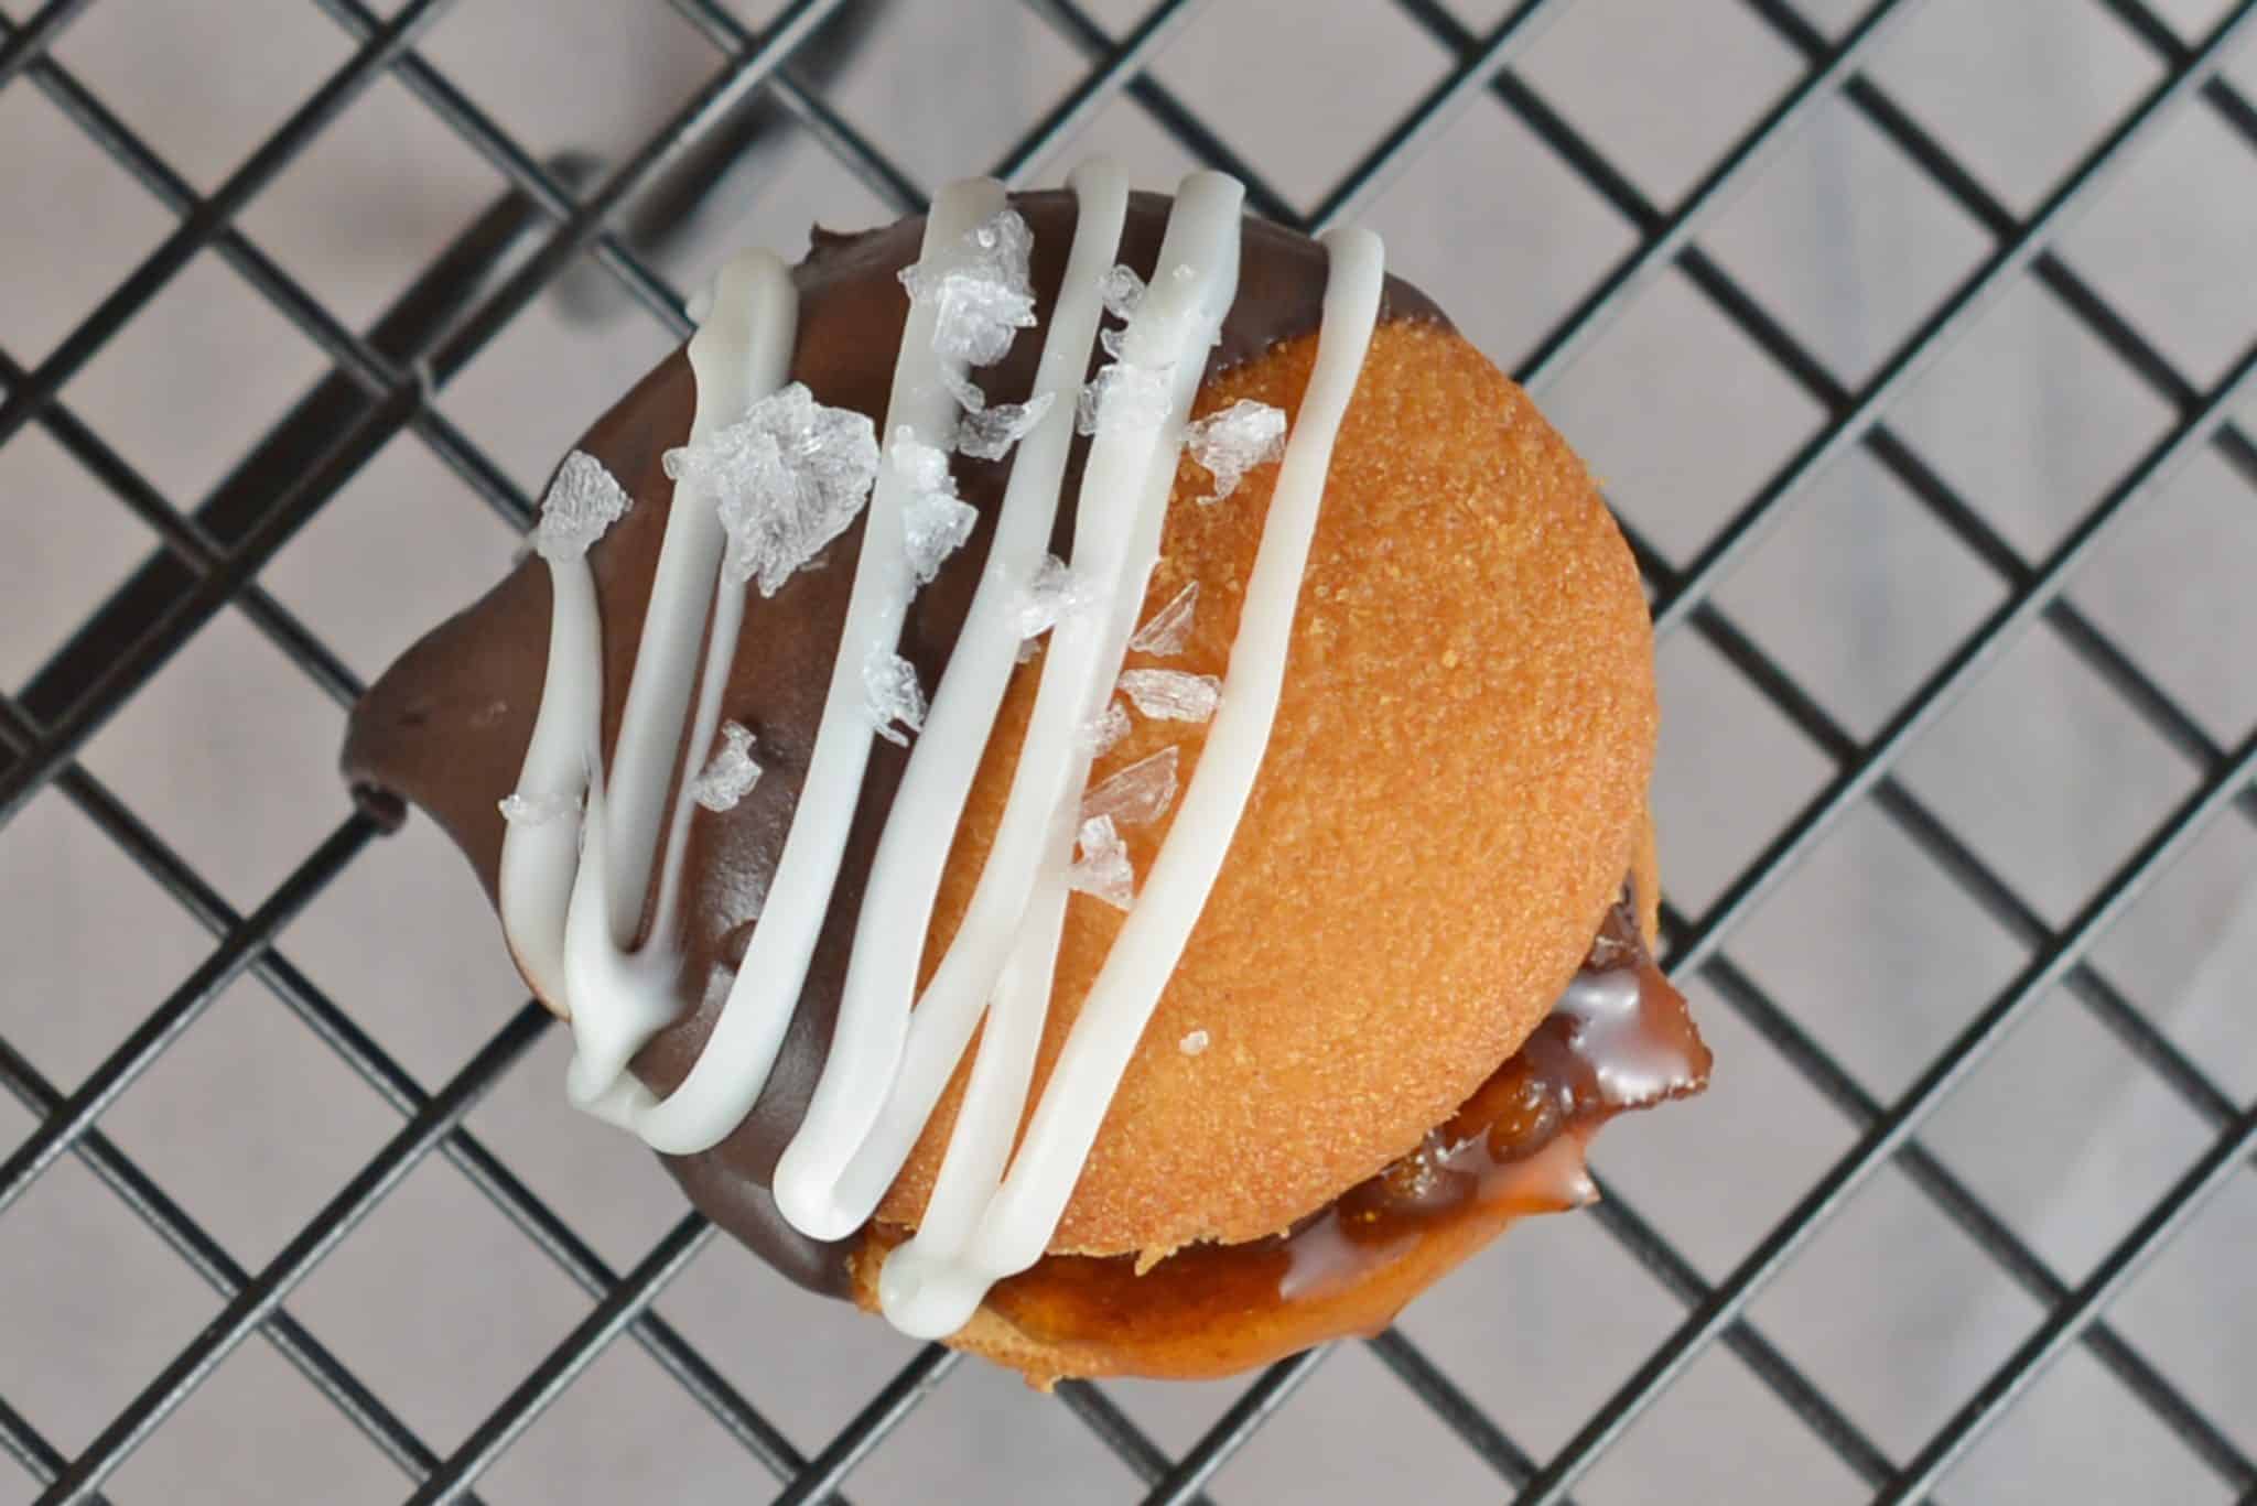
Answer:
<svg viewBox="0 0 2257 1506"><path fill-rule="evenodd" d="M1040 1382L1219 1375L1704 1084L1630 553L1372 237L1099 163L697 314L345 774L715 1222Z"/></svg>

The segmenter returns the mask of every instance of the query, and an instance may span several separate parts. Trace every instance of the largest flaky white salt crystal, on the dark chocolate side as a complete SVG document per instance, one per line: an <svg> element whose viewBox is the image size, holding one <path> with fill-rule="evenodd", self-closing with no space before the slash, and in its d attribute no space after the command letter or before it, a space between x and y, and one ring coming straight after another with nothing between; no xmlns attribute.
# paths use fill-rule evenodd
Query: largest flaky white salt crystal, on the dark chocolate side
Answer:
<svg viewBox="0 0 2257 1506"><path fill-rule="evenodd" d="M727 429L668 449L664 465L675 483L711 492L729 533L722 576L774 596L869 501L878 434L867 415L824 406L792 382Z"/></svg>

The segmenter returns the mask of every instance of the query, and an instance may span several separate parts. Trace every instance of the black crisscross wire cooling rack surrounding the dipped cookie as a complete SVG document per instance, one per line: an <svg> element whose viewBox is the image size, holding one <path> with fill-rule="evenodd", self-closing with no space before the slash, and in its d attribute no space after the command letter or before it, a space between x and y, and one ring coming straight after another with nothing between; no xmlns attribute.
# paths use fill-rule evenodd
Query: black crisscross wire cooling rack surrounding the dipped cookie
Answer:
<svg viewBox="0 0 2257 1506"><path fill-rule="evenodd" d="M2219 1499L2257 1501L2257 1463L2246 1443L2237 1443L2237 1422L2205 1407L2183 1380L2173 1380L2171 1366L2151 1359L2113 1321L2115 1298L2133 1285L2144 1262L2187 1228L2237 1170L2250 1165L2257 1106L2239 1102L2142 1007L2140 991L2113 978L2097 960L2101 937L2205 831L2225 822L2257 822L2257 732L2221 738L2162 684L2137 648L2122 643L2067 589L2079 569L2142 510L2158 506L2158 497L2198 456L2234 479L2241 488L2234 504L2241 526L2257 526L2248 522L2257 508L2257 438L2241 418L2252 411L2257 395L2257 327L2239 336L2221 370L2189 375L2162 341L2142 332L2122 298L2104 291L2063 253L2063 237L2074 219L2108 190L2126 163L2151 151L2171 122L2203 113L2216 131L2257 154L2257 104L2225 72L2237 45L2246 43L2257 0L2210 7L2212 14L2201 18L2198 29L2176 14L2189 7L2169 7L2173 14L2164 16L2144 0L2058 0L2063 14L2090 11L2119 27L2146 61L2149 84L2099 122L2090 140L2074 142L2074 151L2063 147L2065 167L2029 194L2027 203L1991 187L1984 172L1964 160L1950 133L1923 124L1923 115L1903 104L1876 70L1891 38L1923 9L1918 0L1876 0L1855 11L1826 7L1826 16L1808 14L1819 7L1790 0L1709 2L1758 23L1794 59L1794 70L1776 97L1763 102L1751 124L1706 160L1681 192L1666 199L1616 163L1526 70L1528 50L1575 0L1521 0L1501 16L1485 18L1467 18L1465 9L1442 0L1388 0L1447 54L1447 68L1408 113L1386 124L1361 154L1345 156L1338 176L1314 196L1273 183L1264 163L1235 149L1228 131L1210 124L1156 65L1207 7L1196 0L1162 0L1126 18L1113 11L1099 18L1074 0L1027 0L1025 7L1081 59L1083 72L1050 108L1022 122L1016 140L986 163L995 176L1020 183L1054 169L1061 149L1090 120L1128 102L1185 158L1244 178L1253 208L1284 224L1320 230L1365 210L1422 154L1435 151L1454 122L1474 111L1496 111L1542 145L1551 158L1548 172L1573 174L1627 228L1627 248L1593 262L1575 296L1526 341L1514 361L1514 375L1523 384L1539 395L1562 384L1578 359L1668 278L1760 352L1797 402L1817 413L1792 452L1736 494L1690 544L1666 546L1636 510L1625 515L1625 531L1650 585L1663 650L1677 639L1697 639L1821 763L1815 788L1760 833L1751 856L1720 878L1704 903L1666 908L1666 964L1681 984L1700 984L1722 1000L1754 1039L1839 1115L1846 1149L1819 1167L1783 1215L1749 1231L1742 1253L1715 1276L1704 1273L1672 1242L1663 1231L1666 1219L1641 1212L1627 1188L1614 1181L1602 1185L1602 1201L1589 1217L1675 1303L1675 1319L1659 1343L1627 1366L1611 1391L1566 1431L1564 1443L1539 1450L1519 1441L1514 1418L1490 1407L1476 1386L1454 1380L1451 1366L1406 1330L1384 1332L1365 1350L1494 1474L1496 1495L1521 1501L1571 1499L1609 1445L1718 1348L1774 1393L1837 1456L1855 1488L1873 1499L1907 1501L1946 1492L1950 1470L1977 1441L2029 1395L2054 1361L2081 1350L2106 1373L2113 1404L2137 1409L2158 1422L2210 1479ZM828 88L858 47L887 45L882 16L853 0L792 0L758 23L747 23L715 0L652 5L652 25L686 23L709 43L711 72L661 129L632 151L603 160L585 154L544 156L521 145L420 52L454 9L447 0L402 0L384 11L361 0L311 0L348 38L348 61L320 79L239 167L210 192L199 192L167 163L163 142L135 133L61 61L59 38L68 36L90 5L93 0L50 0L20 20L0 20L0 88L45 95L138 181L172 217L172 228L45 357L20 364L0 352L0 447L27 431L43 431L115 504L131 510L160 546L18 689L0 695L0 844L7 842L7 824L34 797L52 790L77 806L208 933L210 951L163 998L140 1000L131 1014L120 1005L122 1034L115 1048L68 1091L0 1034L0 1084L34 1115L27 1138L0 1147L7 1152L0 1158L0 1217L56 1163L74 1158L144 1219L223 1305L163 1368L147 1375L131 1402L86 1447L54 1447L34 1427L36 1409L29 1400L7 1395L0 1395L0 1447L45 1490L41 1499L106 1499L104 1490L122 1461L237 1346L257 1339L397 1465L404 1495L415 1501L478 1499L476 1490L490 1465L544 1409L609 1346L632 1343L743 1445L745 1470L731 1497L749 1499L774 1488L783 1501L844 1499L855 1468L950 1384L959 1368L955 1355L939 1346L919 1350L860 1411L822 1438L813 1454L794 1447L772 1420L772 1407L727 1380L724 1366L700 1352L695 1337L655 1307L668 1282L713 1237L702 1217L679 1217L641 1260L614 1269L569 1217L465 1127L472 1106L551 1030L535 1002L517 1005L445 1082L424 1086L363 1025L377 1000L336 998L291 962L291 923L377 838L363 815L336 822L282 883L253 908L239 910L187 856L135 815L126 797L90 772L81 752L205 625L228 614L255 628L336 704L350 704L361 689L359 677L323 634L262 585L262 571L395 440L420 445L499 517L524 526L533 510L528 492L472 431L449 418L440 395L512 321L573 278L585 284L573 294L576 300L623 298L634 305L636 318L652 321L666 339L682 339L688 332L682 287L659 269L650 248L664 242L670 219L695 212L697 185L738 156L772 149L783 138L801 138L828 154L880 205L919 210L932 185L903 165L905 154L858 126L853 111L837 104ZM262 251L244 230L244 212L379 77L404 86L458 133L501 174L508 192L465 226L381 316L354 327ZM1853 375L1844 375L1844 361L1830 359L1797 332L1774 289L1760 278L1736 273L1731 257L1711 246L1727 205L1821 111L1855 115L1903 169L1918 174L1984 239L1973 264L1918 312L1905 334L1876 350ZM1512 165L1487 169L1505 178L1514 172ZM201 497L178 499L72 411L65 384L183 269L208 255L226 262L309 339L330 370L275 418L219 485ZM2257 260L2250 266L2257 278ZM1993 517L1979 497L1950 481L1948 467L1925 454L1918 438L1898 422L1907 395L1959 336L2004 298L2031 291L2056 305L2094 350L2119 364L2146 400L2167 413L2160 431L2131 463L2106 476L2090 497L2076 499L2065 528L2036 551ZM1995 585L1991 605L1973 625L1950 639L1948 650L1907 693L1867 718L1869 725L1830 707L1821 686L1792 671L1760 632L1736 621L1724 589L1821 476L1848 458L1891 479ZM0 506L9 501L0 497ZM2185 786L2167 808L2155 820L2144 820L2122 858L2065 905L2031 896L2025 883L1984 851L1979 835L1964 829L1964 820L1923 797L1918 783L1905 777L1907 756L1923 734L2025 639L2049 639L2079 673L2104 686L2169 747L2185 770ZM2221 653L2228 648L2232 646L2219 646ZM2237 653L2246 650L2241 646ZM1733 951L1745 923L1783 881L1853 817L1885 820L1948 883L1957 903L1986 917L2020 948L2011 975L1957 1021L1925 1066L1887 1093L1867 1086L1860 1070L1808 1027L1799 1000L1767 987L1760 969ZM269 989L397 1115L397 1133L257 1269L239 1264L102 1127L104 1113L244 978ZM2126 1075L2149 1075L2205 1127L2201 1154L2176 1179L2142 1190L2137 1217L2074 1278L2058 1273L2016 1228L2013 1217L1923 1140L1923 1129L1952 1091L1975 1075L2009 1030L2049 998L2074 1000L2119 1043ZM420 1438L402 1411L359 1380L289 1307L300 1282L429 1158L445 1161L492 1199L530 1246L591 1303L585 1319L555 1339L490 1416L445 1452ZM1767 1337L1756 1312L1758 1296L1794 1267L1885 1167L1894 1167L1957 1226L2036 1312L1995 1368L1966 1395L1952 1398L1941 1425L1912 1447L1878 1441L1858 1420L1855 1404L1839 1400L1785 1346ZM2219 1314L2221 1332L2239 1328L2248 1343L2252 1312L2246 1298L2239 1298L2239 1310L2232 1301L2228 1296ZM1050 1400L1029 1393L1025 1407L1063 1407L1079 1418L1117 1459L1122 1499L1142 1492L1149 1501L1194 1501L1207 1499L1210 1486L1214 1499L1230 1499L1230 1477L1219 1479L1226 1463L1293 1407L1298 1389L1325 1359L1327 1350L1316 1350L1253 1377L1187 1447L1162 1447L1104 1384L1061 1384ZM2248 1438L2246 1431L2239 1436ZM1007 1477L998 1474L998 1492L1007 1490Z"/></svg>

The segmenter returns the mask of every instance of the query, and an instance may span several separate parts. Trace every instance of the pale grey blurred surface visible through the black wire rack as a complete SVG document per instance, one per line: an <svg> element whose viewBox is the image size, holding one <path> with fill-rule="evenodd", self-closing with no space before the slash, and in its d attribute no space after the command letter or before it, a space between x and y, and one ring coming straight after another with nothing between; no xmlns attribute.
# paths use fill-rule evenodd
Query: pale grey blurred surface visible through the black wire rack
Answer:
<svg viewBox="0 0 2257 1506"><path fill-rule="evenodd" d="M25 5L11 5L16 20ZM1135 23L1133 0L1097 7ZM1327 20L1305 20L1323 9ZM1871 77L2018 212L2099 138L2158 63L2083 0L1932 0ZM2219 0L2160 7L2194 36ZM1499 0L1460 14L1487 27ZM1851 0L1810 5L1826 27ZM758 20L747 7L747 18ZM713 68L661 5L460 0L420 52L537 154L625 151ZM350 38L305 0L104 0L56 61L210 190ZM1214 0L1156 72L1271 178L1314 203L1449 65L1388 5ZM833 90L923 183L993 160L1079 77L1018 7L907 5ZM1731 0L1580 0L1521 70L1668 205L1799 77ZM2257 93L2257 47L2234 77ZM1185 167L1126 99L1079 147L1140 181ZM1056 181L1065 158L1038 181ZM241 217L244 233L363 325L501 183L390 79L370 88ZM806 226L882 219L817 147L794 145L670 257L799 251ZM36 364L172 228L32 84L0 90L0 348ZM1472 99L1365 205L1393 264L1512 364L1632 230L1494 99ZM1700 237L1848 384L1979 262L1988 239L1846 106L1830 102ZM2196 384L2257 334L2257 154L2194 106L2142 138L2058 242ZM666 348L639 314L573 323L542 300L442 397L519 485ZM65 404L192 506L309 382L320 354L201 255L63 391ZM1677 273L1648 287L1544 402L1614 504L1679 562L1821 413ZM2257 420L2257 413L2246 415ZM2020 284L1891 411L1896 429L2025 558L2043 555L2171 422L2038 287ZM0 449L0 684L20 686L151 537L43 431ZM483 589L512 537L402 436L264 573L361 675ZM2257 716L2257 494L2203 454L2076 576L2070 596L2221 743ZM1810 485L1718 603L1858 736L1878 729L2004 594L1867 456ZM1672 901L1700 912L1824 781L1826 763L1713 650L1661 650L1657 808ZM237 908L343 817L343 716L223 614L117 716L86 765ZM2049 923L2070 917L2198 779L2038 630L1903 763L1903 779ZM2257 1093L2257 831L2216 822L2097 951L2110 978L2230 1093ZM88 1072L210 951L167 896L56 793L0 833L0 1036L59 1088ZM524 998L442 838L375 844L282 951L427 1086ZM1731 957L1837 1050L1867 1091L1903 1091L2022 964L2022 948L1878 811L1828 835L1731 937ZM1733 1012L1695 989L1715 1091L1625 1122L1602 1172L1720 1278L1853 1138ZM469 1127L618 1269L679 1215L664 1174L560 1095L548 1039ZM237 984L102 1120L257 1269L393 1133L397 1118L257 982ZM0 1104L0 1149L32 1129ZM1952 1095L1923 1142L2054 1271L2079 1280L2210 1131L2067 996L2049 998ZM2237 1176L2110 1312L2119 1332L2257 1452L2257 1179ZM2239 1271L2239 1280L2237 1280ZM77 1161L0 1217L0 1398L56 1447L95 1431L219 1303ZM291 1296L289 1310L427 1443L447 1452L587 1312L449 1165L420 1165ZM659 1310L806 1450L912 1352L882 1323L785 1287L711 1244ZM1679 1319L1593 1219L1528 1226L1420 1301L1404 1328L1537 1456L1551 1454ZM2038 1321L1898 1172L1826 1226L1751 1321L1896 1459L1909 1456ZM1228 1386L1113 1395L1185 1447ZM632 1343L616 1343L481 1483L490 1501L738 1501L765 1474ZM402 1477L264 1339L244 1343L113 1481L117 1501L384 1501ZM1336 1352L1217 1481L1235 1501L1492 1499L1499 1481L1361 1348ZM32 1499L0 1463L0 1504ZM860 1501L1131 1499L1131 1477L1065 1411L961 1366L853 1477ZM1706 1352L1609 1452L1587 1501L1860 1495L1754 1375ZM2223 1488L2083 1352L2045 1375L1952 1474L1952 1501L2212 1501Z"/></svg>

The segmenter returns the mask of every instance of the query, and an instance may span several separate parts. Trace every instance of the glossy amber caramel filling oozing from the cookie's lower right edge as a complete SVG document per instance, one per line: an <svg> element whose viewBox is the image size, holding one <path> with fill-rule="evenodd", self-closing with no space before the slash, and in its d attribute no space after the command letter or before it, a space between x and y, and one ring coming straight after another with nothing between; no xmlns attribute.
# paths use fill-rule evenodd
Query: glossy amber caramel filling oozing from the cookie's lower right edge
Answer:
<svg viewBox="0 0 2257 1506"><path fill-rule="evenodd" d="M1551 1016L1411 1154L1268 1240L1194 1244L1142 1273L1133 1255L1045 1255L986 1307L1086 1361L1074 1373L1223 1375L1377 1332L1512 1219L1591 1201L1600 1124L1706 1082L1709 1048L1625 892Z"/></svg>

